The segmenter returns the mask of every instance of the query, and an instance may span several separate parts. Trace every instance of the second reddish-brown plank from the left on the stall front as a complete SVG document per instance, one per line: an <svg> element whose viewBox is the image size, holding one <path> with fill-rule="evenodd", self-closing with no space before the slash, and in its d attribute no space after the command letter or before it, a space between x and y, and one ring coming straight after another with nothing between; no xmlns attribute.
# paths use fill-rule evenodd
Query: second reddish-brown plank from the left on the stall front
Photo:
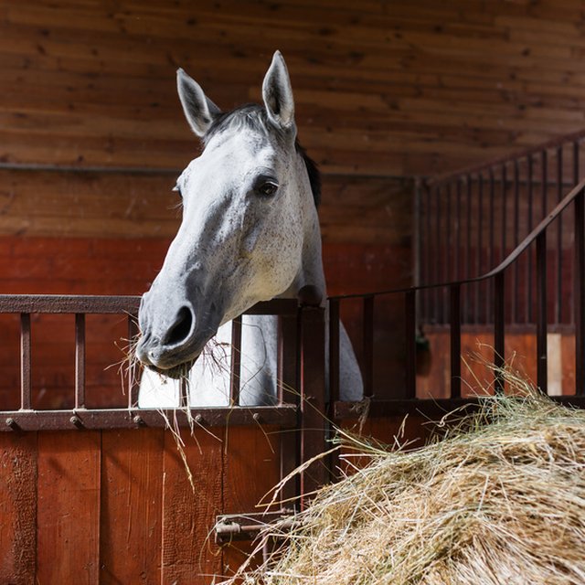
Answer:
<svg viewBox="0 0 585 585"><path fill-rule="evenodd" d="M101 433L38 434L37 580L98 583Z"/></svg>

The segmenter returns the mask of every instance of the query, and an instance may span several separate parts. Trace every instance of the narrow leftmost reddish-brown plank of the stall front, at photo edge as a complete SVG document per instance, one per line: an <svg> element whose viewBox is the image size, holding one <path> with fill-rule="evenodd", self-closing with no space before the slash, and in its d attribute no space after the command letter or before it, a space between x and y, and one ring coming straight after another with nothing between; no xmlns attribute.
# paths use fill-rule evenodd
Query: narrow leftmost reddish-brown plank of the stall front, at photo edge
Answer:
<svg viewBox="0 0 585 585"><path fill-rule="evenodd" d="M37 582L37 433L0 433L0 582Z"/></svg>

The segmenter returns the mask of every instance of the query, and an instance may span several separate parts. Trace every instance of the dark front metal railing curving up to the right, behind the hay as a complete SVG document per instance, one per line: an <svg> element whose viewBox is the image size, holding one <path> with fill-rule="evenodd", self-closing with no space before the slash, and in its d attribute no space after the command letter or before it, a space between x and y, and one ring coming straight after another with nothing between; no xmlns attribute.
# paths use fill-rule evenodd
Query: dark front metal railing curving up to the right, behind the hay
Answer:
<svg viewBox="0 0 585 585"><path fill-rule="evenodd" d="M575 335L575 392L573 397L565 397L573 404L585 405L585 180L578 183L569 193L558 201L557 205L543 218L536 228L531 229L525 239L516 245L504 260L493 270L486 271L472 278L463 278L453 282L439 282L411 288L364 295L343 295L332 297L330 303L330 363L332 373L330 377L331 393L334 400L339 396L339 322L336 318L340 313L340 307L348 300L360 300L363 314L363 371L365 382L365 394L367 397L376 398L374 380L374 331L376 303L381 298L394 297L400 300L404 314L404 340L405 340L405 376L400 381L392 380L395 386L401 386L395 399L383 404L378 400L376 408L370 413L377 416L399 414L413 410L432 410L441 412L450 407L450 404L441 399L417 399L417 335L420 323L420 303L424 303L425 294L431 299L444 298L446 302L442 307L442 322L450 326L450 398L447 402L454 405L462 399L462 347L461 334L463 319L463 306L465 295L463 289L473 291L473 287L484 284L489 291L489 296L483 299L486 314L493 327L493 362L495 365L494 388L496 392L504 389L504 379L498 368L505 363L505 328L510 323L511 311L514 311L514 303L510 297L514 297L517 287L517 267L519 262L526 258L527 254L535 255L535 282L531 294L535 299L534 323L536 324L537 340L537 387L543 393L547 393L548 352L547 333L550 325L549 319L549 285L548 264L550 250L548 249L548 237L550 231L562 221L563 214L572 212L573 245L572 261L573 274L576 286L571 294L571 314ZM565 221L563 229L569 230L569 223ZM512 280L513 286L506 286ZM468 299L467 299L468 300ZM433 301L433 302L434 302ZM435 306L431 304L431 306ZM423 313L423 315L425 315ZM424 318L424 316L423 316ZM343 417L347 414L347 406L337 402L335 416Z"/></svg>

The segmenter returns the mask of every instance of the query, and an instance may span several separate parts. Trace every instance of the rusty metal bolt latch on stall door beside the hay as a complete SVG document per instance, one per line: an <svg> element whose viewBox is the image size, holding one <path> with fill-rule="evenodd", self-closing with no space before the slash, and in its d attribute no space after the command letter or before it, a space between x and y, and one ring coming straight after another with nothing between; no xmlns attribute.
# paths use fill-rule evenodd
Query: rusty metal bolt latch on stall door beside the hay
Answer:
<svg viewBox="0 0 585 585"><path fill-rule="evenodd" d="M216 517L214 527L216 544L224 545L235 540L253 540L267 527L288 532L301 522L295 519L293 509L283 508L276 512L251 514L222 514Z"/></svg>

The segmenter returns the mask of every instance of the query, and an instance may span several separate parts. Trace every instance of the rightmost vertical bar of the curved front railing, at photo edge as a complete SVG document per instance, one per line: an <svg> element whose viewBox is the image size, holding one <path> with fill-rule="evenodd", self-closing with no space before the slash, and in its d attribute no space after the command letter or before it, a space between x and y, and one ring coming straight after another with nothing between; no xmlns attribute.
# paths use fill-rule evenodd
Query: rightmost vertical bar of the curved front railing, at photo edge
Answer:
<svg viewBox="0 0 585 585"><path fill-rule="evenodd" d="M585 395L585 192L575 198L575 394Z"/></svg>

